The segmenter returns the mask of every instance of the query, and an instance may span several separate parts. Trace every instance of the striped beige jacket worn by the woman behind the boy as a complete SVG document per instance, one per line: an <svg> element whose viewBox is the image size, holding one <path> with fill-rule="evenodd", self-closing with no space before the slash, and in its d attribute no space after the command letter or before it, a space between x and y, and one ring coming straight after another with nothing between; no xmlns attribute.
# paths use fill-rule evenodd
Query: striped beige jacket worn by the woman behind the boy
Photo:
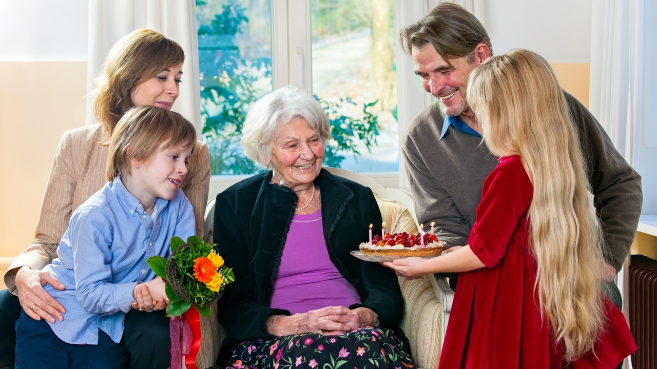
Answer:
<svg viewBox="0 0 657 369"><path fill-rule="evenodd" d="M16 290L18 268L28 265L40 270L57 257L57 245L68 228L72 211L107 182L105 168L109 148L98 143L97 137L101 134L99 125L64 133L43 196L35 240L14 259L5 273L5 285L10 292ZM180 188L194 207L196 234L202 237L210 188L210 152L203 142L196 142L189 171Z"/></svg>

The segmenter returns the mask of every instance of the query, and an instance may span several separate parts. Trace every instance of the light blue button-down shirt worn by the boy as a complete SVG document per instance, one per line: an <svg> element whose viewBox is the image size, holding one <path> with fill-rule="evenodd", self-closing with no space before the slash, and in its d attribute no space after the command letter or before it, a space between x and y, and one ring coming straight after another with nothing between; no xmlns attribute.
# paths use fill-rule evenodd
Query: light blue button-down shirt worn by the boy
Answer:
<svg viewBox="0 0 657 369"><path fill-rule="evenodd" d="M135 285L155 277L146 259L168 256L172 236L187 240L196 233L192 204L182 190L171 200L158 198L155 207L151 219L116 177L73 212L57 259L44 268L66 286L45 286L66 308L64 320L50 324L62 341L95 345L101 329L118 343Z"/></svg>

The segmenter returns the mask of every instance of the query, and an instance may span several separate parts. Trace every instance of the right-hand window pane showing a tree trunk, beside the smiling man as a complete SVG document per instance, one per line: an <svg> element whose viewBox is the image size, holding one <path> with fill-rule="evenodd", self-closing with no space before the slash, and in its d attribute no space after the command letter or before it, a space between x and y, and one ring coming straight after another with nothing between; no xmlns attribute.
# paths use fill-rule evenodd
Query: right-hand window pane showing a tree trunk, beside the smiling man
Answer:
<svg viewBox="0 0 657 369"><path fill-rule="evenodd" d="M334 137L324 164L398 171L392 0L311 0L313 93Z"/></svg>

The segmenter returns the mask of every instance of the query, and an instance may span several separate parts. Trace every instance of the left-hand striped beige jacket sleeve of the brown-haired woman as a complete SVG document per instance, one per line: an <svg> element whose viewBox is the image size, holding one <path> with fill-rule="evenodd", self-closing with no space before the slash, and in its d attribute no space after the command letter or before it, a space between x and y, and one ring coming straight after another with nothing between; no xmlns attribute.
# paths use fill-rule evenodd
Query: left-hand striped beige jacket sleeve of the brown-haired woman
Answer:
<svg viewBox="0 0 657 369"><path fill-rule="evenodd" d="M16 290L16 271L27 265L31 269L41 270L57 257L57 245L62 239L68 220L72 213L73 196L78 181L73 152L71 133L62 136L53 167L50 171L35 231L35 240L22 251L5 273L5 285L10 292Z"/></svg>

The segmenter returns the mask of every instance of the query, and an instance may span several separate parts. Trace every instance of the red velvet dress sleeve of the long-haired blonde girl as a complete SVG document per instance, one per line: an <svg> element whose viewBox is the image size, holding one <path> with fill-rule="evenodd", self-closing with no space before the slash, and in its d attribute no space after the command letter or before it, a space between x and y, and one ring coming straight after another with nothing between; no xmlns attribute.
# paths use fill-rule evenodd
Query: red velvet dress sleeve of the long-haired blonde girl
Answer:
<svg viewBox="0 0 657 369"><path fill-rule="evenodd" d="M532 183L518 157L503 159L484 181L468 244L486 267L495 267L507 253L532 194Z"/></svg>

